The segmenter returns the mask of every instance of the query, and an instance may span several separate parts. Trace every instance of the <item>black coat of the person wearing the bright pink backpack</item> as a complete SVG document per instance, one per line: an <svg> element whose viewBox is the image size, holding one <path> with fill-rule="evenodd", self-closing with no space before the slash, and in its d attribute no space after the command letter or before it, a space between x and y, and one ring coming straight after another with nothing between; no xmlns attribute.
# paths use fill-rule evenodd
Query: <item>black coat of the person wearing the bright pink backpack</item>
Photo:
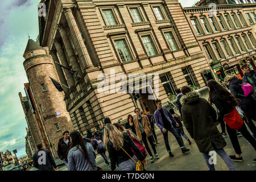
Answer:
<svg viewBox="0 0 256 182"><path fill-rule="evenodd" d="M247 97L241 96L241 95L243 95L243 89L242 89L242 86L240 86L239 84L242 84L242 82L243 81L240 79L231 80L229 82L229 90L230 90L230 93L232 93L234 97L240 99L239 100L240 106L242 108L245 108L246 105L249 105L249 104L251 104L251 102L254 102L254 99L251 96L247 96Z"/></svg>

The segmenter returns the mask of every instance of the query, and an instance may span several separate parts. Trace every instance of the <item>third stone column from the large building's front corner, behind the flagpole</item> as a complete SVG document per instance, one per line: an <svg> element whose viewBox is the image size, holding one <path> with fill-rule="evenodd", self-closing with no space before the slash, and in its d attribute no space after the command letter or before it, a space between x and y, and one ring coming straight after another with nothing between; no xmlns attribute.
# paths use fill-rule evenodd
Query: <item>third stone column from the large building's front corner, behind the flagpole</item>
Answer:
<svg viewBox="0 0 256 182"><path fill-rule="evenodd" d="M64 51L61 47L61 44L57 40L54 40L54 44L55 44L55 47L56 47L57 52L59 54L61 65L70 69L69 65L68 65L68 61L67 61L66 56L65 56L65 53L64 53ZM69 86L69 88L71 88L71 86L75 85L74 77L73 77L72 73L69 72L67 69L64 69L64 73L65 73L66 78L67 78L68 86Z"/></svg>

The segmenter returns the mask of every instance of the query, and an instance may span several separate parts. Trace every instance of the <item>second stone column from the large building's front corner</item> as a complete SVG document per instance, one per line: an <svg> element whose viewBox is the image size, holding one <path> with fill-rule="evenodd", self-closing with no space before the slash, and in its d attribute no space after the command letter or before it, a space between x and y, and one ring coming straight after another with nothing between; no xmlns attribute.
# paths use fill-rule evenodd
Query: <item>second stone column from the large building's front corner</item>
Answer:
<svg viewBox="0 0 256 182"><path fill-rule="evenodd" d="M71 42L69 41L67 32L64 30L64 27L61 26L61 25L59 25L58 28L59 28L59 31L60 31L60 36L61 36L61 38L63 40L63 43L64 43L64 47L67 51L69 63L71 64L72 70L73 71L78 71L79 75L82 76L82 71L81 71L80 65L79 65L79 63L76 59L76 55L75 55L75 52L73 51L73 48L71 46Z"/></svg>

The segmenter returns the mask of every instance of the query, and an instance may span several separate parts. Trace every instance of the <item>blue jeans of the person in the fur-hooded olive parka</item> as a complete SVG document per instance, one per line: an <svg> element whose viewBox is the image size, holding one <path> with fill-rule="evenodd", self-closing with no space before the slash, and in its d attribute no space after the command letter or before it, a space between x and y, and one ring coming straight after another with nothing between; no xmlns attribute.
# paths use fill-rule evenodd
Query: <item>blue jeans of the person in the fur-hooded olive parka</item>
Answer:
<svg viewBox="0 0 256 182"><path fill-rule="evenodd" d="M223 148L221 149L216 149L215 147L213 148L217 152L217 154L221 156L221 159L224 160L224 162L226 163L226 166L228 166L229 168L229 171L237 171L237 168L236 166L234 166L233 161L230 159L229 155L226 154ZM202 154L204 156L205 162L207 163L209 171L215 171L214 164L209 164L210 155L208 153L202 153Z"/></svg>

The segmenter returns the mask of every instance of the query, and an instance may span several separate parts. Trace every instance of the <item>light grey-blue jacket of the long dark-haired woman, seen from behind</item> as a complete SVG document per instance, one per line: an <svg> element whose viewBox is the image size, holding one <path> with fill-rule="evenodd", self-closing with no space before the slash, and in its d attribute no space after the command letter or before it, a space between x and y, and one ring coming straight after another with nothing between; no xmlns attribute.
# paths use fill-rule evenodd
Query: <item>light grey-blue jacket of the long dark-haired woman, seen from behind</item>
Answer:
<svg viewBox="0 0 256 182"><path fill-rule="evenodd" d="M79 148L81 148L80 145L79 145ZM96 153L93 149L92 144L86 143L85 148L88 153L88 160L90 161L90 163L92 163L93 167L97 169L96 161L95 161ZM69 150L68 152L68 170L69 171L93 171L93 168L84 158L84 155L82 155L82 152L76 147L72 147L71 150Z"/></svg>

